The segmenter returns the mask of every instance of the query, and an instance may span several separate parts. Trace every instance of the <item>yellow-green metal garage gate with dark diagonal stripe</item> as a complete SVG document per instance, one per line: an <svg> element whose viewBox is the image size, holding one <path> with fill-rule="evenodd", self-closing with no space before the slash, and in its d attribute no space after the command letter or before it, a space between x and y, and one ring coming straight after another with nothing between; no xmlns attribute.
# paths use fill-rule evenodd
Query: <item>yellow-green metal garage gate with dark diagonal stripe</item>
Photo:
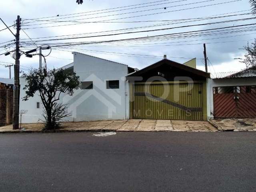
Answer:
<svg viewBox="0 0 256 192"><path fill-rule="evenodd" d="M135 84L133 104L134 118L202 120L202 84Z"/></svg>

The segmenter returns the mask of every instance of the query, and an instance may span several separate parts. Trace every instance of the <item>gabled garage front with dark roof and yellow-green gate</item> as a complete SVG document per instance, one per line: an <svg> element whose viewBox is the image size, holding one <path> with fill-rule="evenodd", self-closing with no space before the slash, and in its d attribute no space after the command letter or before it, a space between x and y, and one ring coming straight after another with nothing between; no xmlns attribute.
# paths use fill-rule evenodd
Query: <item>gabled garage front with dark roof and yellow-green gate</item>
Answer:
<svg viewBox="0 0 256 192"><path fill-rule="evenodd" d="M180 64L160 60L127 76L130 118L207 121L207 81L196 59Z"/></svg>

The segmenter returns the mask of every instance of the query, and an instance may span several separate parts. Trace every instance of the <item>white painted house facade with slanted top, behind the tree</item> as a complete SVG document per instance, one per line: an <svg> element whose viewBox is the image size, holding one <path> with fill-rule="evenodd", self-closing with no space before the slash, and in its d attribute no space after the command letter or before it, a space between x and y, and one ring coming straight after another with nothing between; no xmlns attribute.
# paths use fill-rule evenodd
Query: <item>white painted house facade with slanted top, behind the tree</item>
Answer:
<svg viewBox="0 0 256 192"><path fill-rule="evenodd" d="M93 89L78 89L73 96L62 94L60 102L67 103L70 121L111 120L129 118L129 86L125 80L128 66L117 62L74 52L74 62L63 69L74 69L80 81L92 81ZM107 80L119 80L118 89L107 89ZM20 81L21 88L24 80ZM20 98L25 95L21 89ZM20 100L20 109L28 110L22 116L22 122L33 123L42 119L42 104L36 108L40 97L35 95L28 101Z"/></svg>

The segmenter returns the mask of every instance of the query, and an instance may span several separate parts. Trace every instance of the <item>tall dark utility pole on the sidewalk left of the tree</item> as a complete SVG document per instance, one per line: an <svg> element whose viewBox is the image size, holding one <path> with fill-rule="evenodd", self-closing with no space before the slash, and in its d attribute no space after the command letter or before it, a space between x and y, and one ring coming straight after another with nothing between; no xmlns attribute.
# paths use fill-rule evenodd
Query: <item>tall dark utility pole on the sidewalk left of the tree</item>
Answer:
<svg viewBox="0 0 256 192"><path fill-rule="evenodd" d="M12 129L19 128L19 103L20 103L20 16L16 20L16 50L14 65L14 97L13 97L13 124Z"/></svg>

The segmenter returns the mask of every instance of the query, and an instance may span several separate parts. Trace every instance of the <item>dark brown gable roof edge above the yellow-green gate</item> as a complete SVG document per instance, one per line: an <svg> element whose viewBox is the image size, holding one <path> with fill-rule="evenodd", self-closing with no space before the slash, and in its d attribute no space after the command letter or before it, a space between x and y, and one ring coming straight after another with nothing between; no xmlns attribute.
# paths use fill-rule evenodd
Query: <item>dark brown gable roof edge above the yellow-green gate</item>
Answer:
<svg viewBox="0 0 256 192"><path fill-rule="evenodd" d="M168 59L162 59L150 66L147 66L145 68L143 68L142 70L139 70L133 74L130 74L128 76L140 76L141 74L144 74L146 72L148 72L149 70L152 70L154 68L157 68L159 66L161 66L162 64L168 64L170 67L176 67L178 69L181 69L181 70L185 70L185 71L188 71L188 72L191 72L193 74L196 74L198 76L203 76L205 78L210 78L210 73L206 73L202 70L198 70L198 69L195 69L195 68L192 68L192 67L189 67L189 66L186 66L184 64L180 64L180 63L177 63L175 61L172 61L172 60L168 60Z"/></svg>

